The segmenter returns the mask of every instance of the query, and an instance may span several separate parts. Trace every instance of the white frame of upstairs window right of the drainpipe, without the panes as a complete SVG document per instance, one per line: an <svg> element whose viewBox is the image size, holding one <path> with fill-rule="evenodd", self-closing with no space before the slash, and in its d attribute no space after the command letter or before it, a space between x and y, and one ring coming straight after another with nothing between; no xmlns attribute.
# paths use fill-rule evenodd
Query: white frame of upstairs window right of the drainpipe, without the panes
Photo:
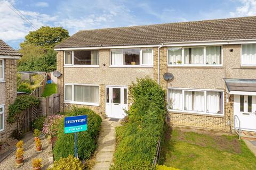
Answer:
<svg viewBox="0 0 256 170"><path fill-rule="evenodd" d="M221 46L221 64L206 64L206 47L215 47ZM203 64L185 64L184 48L204 48L204 63ZM169 48L181 48L181 64L169 64ZM242 51L241 51L242 53ZM184 47L168 47L167 48L167 65L170 67L189 67L189 66L198 66L198 67L222 67L223 66L223 46L222 45L211 45L211 46L184 46Z"/></svg>

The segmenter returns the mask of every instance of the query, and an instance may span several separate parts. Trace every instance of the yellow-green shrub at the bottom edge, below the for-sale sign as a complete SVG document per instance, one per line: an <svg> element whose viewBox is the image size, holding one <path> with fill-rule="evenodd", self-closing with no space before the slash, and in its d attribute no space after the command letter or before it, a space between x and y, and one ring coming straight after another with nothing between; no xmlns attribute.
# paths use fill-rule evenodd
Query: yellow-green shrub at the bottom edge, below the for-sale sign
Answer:
<svg viewBox="0 0 256 170"><path fill-rule="evenodd" d="M47 170L83 170L84 165L81 160L69 155L67 158L60 158L60 160L55 161L53 168L48 168Z"/></svg>

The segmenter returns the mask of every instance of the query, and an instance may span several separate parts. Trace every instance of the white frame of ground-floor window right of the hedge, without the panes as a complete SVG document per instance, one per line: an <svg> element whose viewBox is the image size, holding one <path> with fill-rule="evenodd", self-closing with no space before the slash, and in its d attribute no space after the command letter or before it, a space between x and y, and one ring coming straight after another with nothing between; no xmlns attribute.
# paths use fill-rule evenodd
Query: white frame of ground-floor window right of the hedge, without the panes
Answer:
<svg viewBox="0 0 256 170"><path fill-rule="evenodd" d="M169 90L182 90L182 110L174 110L174 109L169 109ZM185 91L201 91L204 92L204 112L197 112L197 111L187 111L184 108L184 104L185 104ZM206 94L207 91L215 91L215 92L221 92L222 94L222 113L218 114L218 113L208 113L207 111L207 98L206 98ZM178 113L196 113L196 114L203 114L203 115L214 115L214 116L223 116L224 115L224 90L215 90L215 89L190 89L190 88L168 88L167 89L167 110L169 112L178 112Z"/></svg>

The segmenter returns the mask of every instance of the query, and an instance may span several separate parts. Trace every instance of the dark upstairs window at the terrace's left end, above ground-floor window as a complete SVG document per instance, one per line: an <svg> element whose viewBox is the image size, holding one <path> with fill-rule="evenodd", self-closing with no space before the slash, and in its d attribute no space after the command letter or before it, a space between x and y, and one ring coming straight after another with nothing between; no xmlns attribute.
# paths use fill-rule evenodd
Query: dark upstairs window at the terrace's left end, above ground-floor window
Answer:
<svg viewBox="0 0 256 170"><path fill-rule="evenodd" d="M65 65L99 65L99 50L75 50L65 52Z"/></svg>

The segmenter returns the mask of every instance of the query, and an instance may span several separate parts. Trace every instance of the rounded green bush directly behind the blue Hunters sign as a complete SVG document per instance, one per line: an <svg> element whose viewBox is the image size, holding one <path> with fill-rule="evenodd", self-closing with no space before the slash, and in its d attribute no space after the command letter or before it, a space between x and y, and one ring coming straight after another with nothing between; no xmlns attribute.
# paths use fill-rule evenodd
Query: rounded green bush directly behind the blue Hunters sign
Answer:
<svg viewBox="0 0 256 170"><path fill-rule="evenodd" d="M101 128L101 117L88 108L76 108L67 113L67 116L87 115L87 131L77 132L77 153L80 159L89 159L97 147L97 139ZM58 140L53 147L53 155L55 160L68 155L73 155L74 149L74 133L64 133L64 121L60 123L58 131Z"/></svg>

